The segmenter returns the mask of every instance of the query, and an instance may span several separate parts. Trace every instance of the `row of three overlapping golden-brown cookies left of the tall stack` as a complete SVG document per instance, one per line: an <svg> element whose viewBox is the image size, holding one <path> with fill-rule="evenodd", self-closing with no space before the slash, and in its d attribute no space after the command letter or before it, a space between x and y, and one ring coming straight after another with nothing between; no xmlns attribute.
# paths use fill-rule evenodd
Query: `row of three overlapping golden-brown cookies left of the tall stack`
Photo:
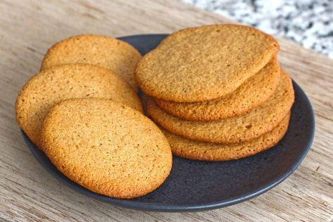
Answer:
<svg viewBox="0 0 333 222"><path fill-rule="evenodd" d="M61 173L93 192L146 195L172 167L163 132L142 113L141 54L111 37L80 35L51 47L16 101L16 119Z"/></svg>

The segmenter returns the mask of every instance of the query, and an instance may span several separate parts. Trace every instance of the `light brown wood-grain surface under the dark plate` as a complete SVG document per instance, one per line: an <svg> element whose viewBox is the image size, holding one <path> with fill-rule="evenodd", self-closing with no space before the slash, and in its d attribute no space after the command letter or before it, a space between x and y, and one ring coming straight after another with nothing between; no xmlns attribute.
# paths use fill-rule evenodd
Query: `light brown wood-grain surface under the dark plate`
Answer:
<svg viewBox="0 0 333 222"><path fill-rule="evenodd" d="M15 97L51 44L80 33L168 33L229 20L178 1L0 1L0 221L333 221L333 61L279 39L279 61L310 97L313 147L264 195L224 209L170 214L122 209L70 190L39 166L15 122Z"/></svg>

